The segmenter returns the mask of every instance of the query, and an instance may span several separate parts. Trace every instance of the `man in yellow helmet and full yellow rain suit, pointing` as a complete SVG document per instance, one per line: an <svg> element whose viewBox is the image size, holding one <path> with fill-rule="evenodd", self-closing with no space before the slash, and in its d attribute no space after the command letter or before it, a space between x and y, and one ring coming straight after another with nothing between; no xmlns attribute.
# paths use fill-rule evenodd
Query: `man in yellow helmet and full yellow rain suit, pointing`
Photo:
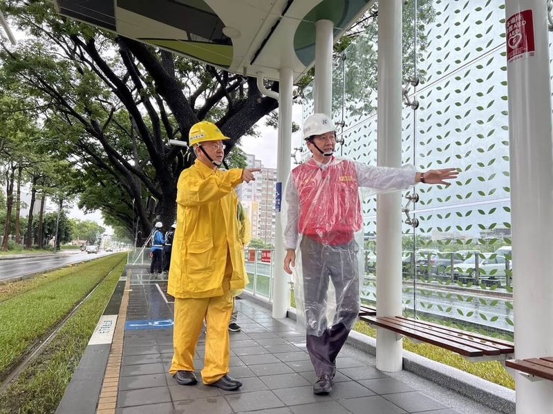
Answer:
<svg viewBox="0 0 553 414"><path fill-rule="evenodd" d="M232 292L245 287L243 244L234 188L254 180L259 168L218 170L227 140L211 122L192 126L194 166L177 184L177 223L168 293L175 297L174 355L169 373L180 385L196 384L194 353L205 319L203 383L227 391L242 383L229 377Z"/></svg>

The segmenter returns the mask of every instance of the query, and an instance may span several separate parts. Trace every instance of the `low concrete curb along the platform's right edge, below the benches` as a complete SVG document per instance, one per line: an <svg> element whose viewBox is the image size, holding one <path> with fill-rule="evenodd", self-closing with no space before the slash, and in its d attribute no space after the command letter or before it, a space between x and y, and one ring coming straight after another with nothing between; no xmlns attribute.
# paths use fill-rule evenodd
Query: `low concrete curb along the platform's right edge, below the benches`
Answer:
<svg viewBox="0 0 553 414"><path fill-rule="evenodd" d="M255 302L265 308L271 307L268 299L253 296L244 292L248 300ZM296 310L288 309L287 317L296 320ZM346 344L369 355L376 355L376 339L368 337L357 331L351 331ZM504 386L482 380L480 377L465 373L457 368L435 362L409 351L404 351L403 368L415 375L419 375L435 384L449 388L460 395L465 395L470 400L488 406L496 411L505 414L514 414L515 392Z"/></svg>

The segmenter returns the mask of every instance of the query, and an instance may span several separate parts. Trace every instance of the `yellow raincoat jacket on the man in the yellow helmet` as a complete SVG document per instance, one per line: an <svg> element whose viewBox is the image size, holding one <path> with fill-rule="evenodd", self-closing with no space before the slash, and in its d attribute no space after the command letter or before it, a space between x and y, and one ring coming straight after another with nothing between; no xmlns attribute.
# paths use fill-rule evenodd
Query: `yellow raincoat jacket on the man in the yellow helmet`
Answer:
<svg viewBox="0 0 553 414"><path fill-rule="evenodd" d="M232 261L230 290L244 288L244 251L234 192L241 177L241 169L212 170L198 160L180 174L169 295L182 299L223 295L227 255Z"/></svg>

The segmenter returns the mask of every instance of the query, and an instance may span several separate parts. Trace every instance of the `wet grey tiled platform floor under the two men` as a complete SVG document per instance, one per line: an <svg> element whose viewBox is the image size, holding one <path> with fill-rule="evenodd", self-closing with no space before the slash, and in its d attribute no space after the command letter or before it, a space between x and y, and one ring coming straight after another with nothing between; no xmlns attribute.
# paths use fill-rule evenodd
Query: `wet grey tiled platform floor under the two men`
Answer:
<svg viewBox="0 0 553 414"><path fill-rule="evenodd" d="M160 290L147 281L133 283L129 319L165 319L171 310ZM156 301L162 301L156 303ZM198 383L179 386L167 374L172 356L172 328L127 330L118 395L118 414L455 414L449 406L371 366L367 359L337 359L332 393L312 393L315 380L305 335L289 320L245 299L236 301L240 333L231 333L231 372L238 391ZM205 337L196 349L196 370L203 367ZM199 371L196 372L200 378Z"/></svg>

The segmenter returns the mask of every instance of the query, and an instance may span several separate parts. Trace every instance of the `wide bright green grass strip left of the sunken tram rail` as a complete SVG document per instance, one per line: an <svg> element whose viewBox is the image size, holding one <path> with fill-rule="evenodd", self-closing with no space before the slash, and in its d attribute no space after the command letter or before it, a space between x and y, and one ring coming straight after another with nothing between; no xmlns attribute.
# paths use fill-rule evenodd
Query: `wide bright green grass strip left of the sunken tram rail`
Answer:
<svg viewBox="0 0 553 414"><path fill-rule="evenodd" d="M0 373L24 355L81 301L124 254L71 268L59 277L0 304Z"/></svg>

